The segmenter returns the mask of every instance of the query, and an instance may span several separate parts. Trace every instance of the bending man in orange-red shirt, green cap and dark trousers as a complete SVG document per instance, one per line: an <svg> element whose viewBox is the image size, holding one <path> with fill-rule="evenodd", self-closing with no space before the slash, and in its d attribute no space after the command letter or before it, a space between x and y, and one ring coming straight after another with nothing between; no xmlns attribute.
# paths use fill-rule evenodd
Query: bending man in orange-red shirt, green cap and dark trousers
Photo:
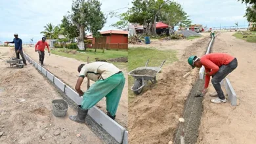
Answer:
<svg viewBox="0 0 256 144"><path fill-rule="evenodd" d="M215 88L216 92L210 94L210 96L218 96L219 98L211 99L213 103L225 103L226 98L224 97L223 90L221 90L220 82L236 67L238 67L238 61L233 56L223 53L205 54L202 58L197 56L190 56L188 63L194 67L205 67L205 85L203 88L203 95L205 95L209 86L210 76L211 83Z"/></svg>

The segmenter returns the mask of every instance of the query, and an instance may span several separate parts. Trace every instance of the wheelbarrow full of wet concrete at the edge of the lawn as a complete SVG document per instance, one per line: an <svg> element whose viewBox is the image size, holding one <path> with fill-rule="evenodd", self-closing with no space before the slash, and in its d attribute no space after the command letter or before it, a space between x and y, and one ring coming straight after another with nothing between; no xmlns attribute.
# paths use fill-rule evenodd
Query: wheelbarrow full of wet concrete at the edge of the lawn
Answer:
<svg viewBox="0 0 256 144"><path fill-rule="evenodd" d="M133 69L128 73L128 75L131 75L135 79L135 83L131 87L131 90L133 90L134 94L136 95L139 95L142 92L142 89L144 88L144 86L146 86L148 81L151 81L152 84L155 84L157 82L156 74L161 71L161 67L163 66L163 63L165 63L164 60L163 63L161 63L160 67L148 67L148 61L146 62L146 65L144 67L138 67L137 69ZM140 73L142 71L151 72Z"/></svg>

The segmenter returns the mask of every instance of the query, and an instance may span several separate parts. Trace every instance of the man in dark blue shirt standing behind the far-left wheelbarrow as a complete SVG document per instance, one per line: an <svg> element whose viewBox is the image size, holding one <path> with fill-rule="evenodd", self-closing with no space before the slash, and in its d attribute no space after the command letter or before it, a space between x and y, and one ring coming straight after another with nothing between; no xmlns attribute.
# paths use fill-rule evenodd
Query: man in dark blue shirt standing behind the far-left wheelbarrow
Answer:
<svg viewBox="0 0 256 144"><path fill-rule="evenodd" d="M14 37L15 38L13 39L13 41L7 42L7 43L14 43L16 58L20 59L20 56L21 56L24 65L27 65L26 59L25 59L23 51L22 51L22 39L18 38L18 34L17 33L14 33Z"/></svg>

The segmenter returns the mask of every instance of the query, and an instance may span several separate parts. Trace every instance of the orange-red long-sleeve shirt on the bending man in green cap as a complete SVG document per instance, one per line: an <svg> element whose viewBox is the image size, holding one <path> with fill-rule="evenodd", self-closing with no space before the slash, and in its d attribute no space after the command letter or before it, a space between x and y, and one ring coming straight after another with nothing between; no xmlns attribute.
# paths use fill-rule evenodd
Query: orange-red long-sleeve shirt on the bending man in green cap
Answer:
<svg viewBox="0 0 256 144"><path fill-rule="evenodd" d="M205 73L209 72L209 75L214 75L219 71L219 67L221 67L221 65L228 65L232 60L234 60L233 56L224 53L205 54L205 56L200 58L200 62L205 67ZM208 88L209 86L209 75L205 75L205 88Z"/></svg>

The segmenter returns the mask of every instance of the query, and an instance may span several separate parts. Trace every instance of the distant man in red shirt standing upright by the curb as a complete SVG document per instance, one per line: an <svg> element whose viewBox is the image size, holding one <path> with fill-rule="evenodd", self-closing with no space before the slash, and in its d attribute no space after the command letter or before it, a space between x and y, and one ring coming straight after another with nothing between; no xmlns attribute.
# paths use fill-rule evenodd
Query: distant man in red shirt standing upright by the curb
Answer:
<svg viewBox="0 0 256 144"><path fill-rule="evenodd" d="M45 40L46 38L42 37L42 41L38 41L35 45L35 52L38 52L39 54L39 62L41 63L41 65L44 65L43 60L45 60L45 46L47 46L48 53L50 53L49 45L47 42L45 42Z"/></svg>

